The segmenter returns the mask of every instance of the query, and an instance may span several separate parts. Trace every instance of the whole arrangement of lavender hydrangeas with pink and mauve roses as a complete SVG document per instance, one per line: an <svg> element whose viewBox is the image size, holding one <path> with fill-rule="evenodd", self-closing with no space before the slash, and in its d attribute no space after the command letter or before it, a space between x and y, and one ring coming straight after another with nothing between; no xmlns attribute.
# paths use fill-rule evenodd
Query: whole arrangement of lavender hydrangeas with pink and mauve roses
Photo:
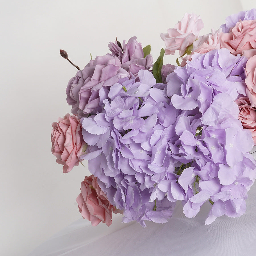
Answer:
<svg viewBox="0 0 256 256"><path fill-rule="evenodd" d="M166 48L154 65L136 37L110 42L82 70L72 63L73 115L52 124L52 153L64 173L88 160L77 203L93 226L110 226L112 212L165 223L176 201L188 218L209 203L205 224L245 213L256 177L256 10L199 36L202 28L200 16L185 14L161 34ZM177 50L177 66L163 65Z"/></svg>

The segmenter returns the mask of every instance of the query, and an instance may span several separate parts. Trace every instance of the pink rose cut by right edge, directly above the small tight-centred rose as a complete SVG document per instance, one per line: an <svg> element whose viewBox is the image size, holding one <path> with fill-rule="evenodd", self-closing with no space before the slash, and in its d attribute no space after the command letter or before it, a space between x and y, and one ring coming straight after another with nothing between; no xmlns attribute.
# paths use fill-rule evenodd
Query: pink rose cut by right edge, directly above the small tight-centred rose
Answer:
<svg viewBox="0 0 256 256"><path fill-rule="evenodd" d="M245 84L251 107L256 107L256 55L248 59L245 66Z"/></svg>

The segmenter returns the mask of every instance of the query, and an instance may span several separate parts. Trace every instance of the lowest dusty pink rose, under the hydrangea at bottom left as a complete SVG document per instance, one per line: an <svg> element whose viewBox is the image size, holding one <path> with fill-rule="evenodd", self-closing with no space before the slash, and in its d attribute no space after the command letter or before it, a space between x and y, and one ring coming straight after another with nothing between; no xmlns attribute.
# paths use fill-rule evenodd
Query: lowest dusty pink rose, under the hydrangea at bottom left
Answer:
<svg viewBox="0 0 256 256"><path fill-rule="evenodd" d="M92 226L97 226L101 221L110 226L112 224L112 212L121 212L108 201L105 193L98 185L97 178L93 175L85 176L84 181L82 181L77 203L82 217L90 220Z"/></svg>

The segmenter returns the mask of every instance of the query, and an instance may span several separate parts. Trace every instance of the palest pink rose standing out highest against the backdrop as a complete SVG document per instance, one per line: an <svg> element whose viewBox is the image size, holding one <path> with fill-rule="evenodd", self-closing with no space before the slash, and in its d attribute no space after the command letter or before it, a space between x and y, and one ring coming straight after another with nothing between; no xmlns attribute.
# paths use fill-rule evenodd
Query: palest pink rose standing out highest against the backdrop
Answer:
<svg viewBox="0 0 256 256"><path fill-rule="evenodd" d="M167 34L160 34L166 45L165 54L174 54L179 50L179 54L183 55L186 48L198 38L203 26L200 16L186 13L174 28L167 30Z"/></svg>

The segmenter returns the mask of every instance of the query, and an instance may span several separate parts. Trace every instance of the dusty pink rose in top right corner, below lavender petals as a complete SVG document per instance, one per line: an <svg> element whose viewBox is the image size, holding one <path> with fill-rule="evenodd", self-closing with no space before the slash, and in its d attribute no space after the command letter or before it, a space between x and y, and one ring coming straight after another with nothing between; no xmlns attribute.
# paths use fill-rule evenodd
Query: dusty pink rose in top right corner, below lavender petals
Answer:
<svg viewBox="0 0 256 256"><path fill-rule="evenodd" d="M243 20L236 23L229 33L220 36L221 48L228 48L234 55L256 48L256 20Z"/></svg>

